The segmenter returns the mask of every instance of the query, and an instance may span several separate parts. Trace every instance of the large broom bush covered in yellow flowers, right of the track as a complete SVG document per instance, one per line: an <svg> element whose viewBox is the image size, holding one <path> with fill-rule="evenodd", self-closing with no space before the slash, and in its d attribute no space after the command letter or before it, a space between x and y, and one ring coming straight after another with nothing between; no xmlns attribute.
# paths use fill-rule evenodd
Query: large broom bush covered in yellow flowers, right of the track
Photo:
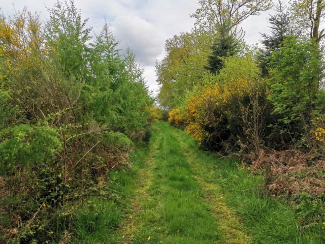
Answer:
<svg viewBox="0 0 325 244"><path fill-rule="evenodd" d="M230 123L238 119L238 103L249 91L249 81L242 78L203 88L187 101L187 134L210 149L222 149L224 143L232 138L233 125Z"/></svg>

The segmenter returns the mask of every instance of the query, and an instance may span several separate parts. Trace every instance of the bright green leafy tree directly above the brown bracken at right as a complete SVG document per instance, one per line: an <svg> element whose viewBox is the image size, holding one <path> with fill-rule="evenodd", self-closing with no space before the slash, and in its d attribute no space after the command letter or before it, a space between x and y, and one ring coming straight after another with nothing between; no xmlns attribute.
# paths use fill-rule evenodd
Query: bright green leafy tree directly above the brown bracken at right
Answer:
<svg viewBox="0 0 325 244"><path fill-rule="evenodd" d="M316 99L322 75L320 53L313 41L300 41L297 37L284 40L279 51L270 59L269 96L278 117L276 130L286 142L297 142L309 133L309 121L322 101Z"/></svg>

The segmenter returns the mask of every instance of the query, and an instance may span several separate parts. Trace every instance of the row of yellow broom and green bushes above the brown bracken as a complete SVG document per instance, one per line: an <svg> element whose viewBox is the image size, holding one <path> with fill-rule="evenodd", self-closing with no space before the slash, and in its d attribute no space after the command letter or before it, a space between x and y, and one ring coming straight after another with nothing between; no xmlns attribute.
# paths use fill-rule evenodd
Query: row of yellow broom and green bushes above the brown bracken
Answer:
<svg viewBox="0 0 325 244"><path fill-rule="evenodd" d="M325 112L317 47L288 37L273 52L270 66L270 77L264 79L250 54L225 58L219 74L203 76L181 107L171 110L170 121L184 124L188 134L213 150L247 144L311 148L313 133L322 134L316 118ZM180 110L185 112L176 123Z"/></svg>

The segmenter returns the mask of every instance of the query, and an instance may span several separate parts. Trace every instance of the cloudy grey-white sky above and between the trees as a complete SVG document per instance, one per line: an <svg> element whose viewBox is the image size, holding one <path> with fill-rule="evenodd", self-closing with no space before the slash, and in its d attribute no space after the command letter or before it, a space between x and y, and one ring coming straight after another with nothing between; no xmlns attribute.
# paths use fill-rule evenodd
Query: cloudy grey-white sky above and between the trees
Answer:
<svg viewBox="0 0 325 244"><path fill-rule="evenodd" d="M276 1L276 0L275 0ZM42 19L48 14L45 6L52 7L56 0L5 0L0 8L5 15L22 9L40 12ZM180 32L190 31L194 20L189 17L197 8L197 0L75 0L88 24L97 33L105 19L111 31L121 41L120 48L130 46L145 69L147 83L157 93L154 63L164 57L165 40ZM252 16L242 27L248 44L261 39L259 33L268 33L267 17L272 11Z"/></svg>

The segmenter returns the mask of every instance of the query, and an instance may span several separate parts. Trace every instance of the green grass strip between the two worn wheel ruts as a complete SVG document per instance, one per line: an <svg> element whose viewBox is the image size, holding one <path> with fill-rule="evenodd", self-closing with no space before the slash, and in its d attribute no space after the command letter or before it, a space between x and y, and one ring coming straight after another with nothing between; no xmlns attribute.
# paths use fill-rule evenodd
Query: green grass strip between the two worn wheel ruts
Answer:
<svg viewBox="0 0 325 244"><path fill-rule="evenodd" d="M154 135L151 186L132 243L222 243L202 188L166 126L158 124Z"/></svg>

